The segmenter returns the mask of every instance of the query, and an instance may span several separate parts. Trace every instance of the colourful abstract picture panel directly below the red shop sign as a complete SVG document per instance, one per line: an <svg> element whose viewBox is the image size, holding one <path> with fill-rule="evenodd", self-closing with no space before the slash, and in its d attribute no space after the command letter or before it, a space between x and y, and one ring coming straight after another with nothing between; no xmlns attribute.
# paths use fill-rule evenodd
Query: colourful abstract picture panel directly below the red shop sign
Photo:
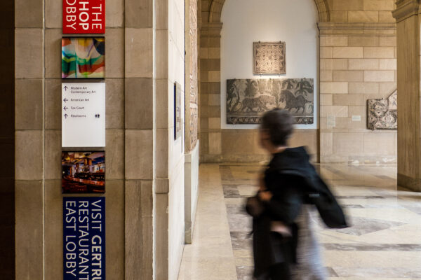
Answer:
<svg viewBox="0 0 421 280"><path fill-rule="evenodd" d="M104 78L104 37L63 37L62 78Z"/></svg>

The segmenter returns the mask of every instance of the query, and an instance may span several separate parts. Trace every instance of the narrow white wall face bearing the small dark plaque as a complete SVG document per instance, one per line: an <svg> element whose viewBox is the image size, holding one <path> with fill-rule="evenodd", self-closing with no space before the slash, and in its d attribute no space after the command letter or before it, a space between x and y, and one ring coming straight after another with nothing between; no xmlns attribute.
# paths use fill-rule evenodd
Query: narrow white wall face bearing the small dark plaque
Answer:
<svg viewBox="0 0 421 280"><path fill-rule="evenodd" d="M178 278L185 238L184 133L174 140L174 83L182 85L181 104L185 111L185 3L168 1L168 279ZM159 106L159 105L158 105ZM184 118L184 113L182 113ZM184 120L182 120L184 132Z"/></svg>

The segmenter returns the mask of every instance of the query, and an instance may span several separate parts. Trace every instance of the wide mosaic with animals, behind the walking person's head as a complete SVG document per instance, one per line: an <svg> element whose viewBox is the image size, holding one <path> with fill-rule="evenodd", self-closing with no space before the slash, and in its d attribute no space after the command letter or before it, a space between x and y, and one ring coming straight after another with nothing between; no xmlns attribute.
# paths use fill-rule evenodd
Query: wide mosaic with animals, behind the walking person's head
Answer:
<svg viewBox="0 0 421 280"><path fill-rule="evenodd" d="M289 111L297 124L314 122L314 80L227 80L227 124L259 124L272 109Z"/></svg>

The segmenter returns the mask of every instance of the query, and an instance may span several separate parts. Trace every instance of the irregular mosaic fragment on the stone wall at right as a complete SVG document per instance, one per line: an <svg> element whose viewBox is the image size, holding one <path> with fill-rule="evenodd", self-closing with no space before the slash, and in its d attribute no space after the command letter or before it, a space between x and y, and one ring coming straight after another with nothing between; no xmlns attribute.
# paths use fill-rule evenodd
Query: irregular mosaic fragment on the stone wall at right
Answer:
<svg viewBox="0 0 421 280"><path fill-rule="evenodd" d="M367 100L367 127L369 130L398 129L398 92L387 99Z"/></svg>

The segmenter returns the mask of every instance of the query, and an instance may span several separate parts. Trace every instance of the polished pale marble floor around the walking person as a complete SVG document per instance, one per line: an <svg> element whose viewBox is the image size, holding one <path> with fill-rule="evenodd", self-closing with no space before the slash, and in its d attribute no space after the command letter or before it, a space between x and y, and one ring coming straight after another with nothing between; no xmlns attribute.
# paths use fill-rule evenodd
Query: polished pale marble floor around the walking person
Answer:
<svg viewBox="0 0 421 280"><path fill-rule="evenodd" d="M328 279L421 279L421 193L398 190L396 167L318 165L351 228L326 229L316 218ZM201 165L193 244L179 280L252 279L250 218L256 165Z"/></svg>

